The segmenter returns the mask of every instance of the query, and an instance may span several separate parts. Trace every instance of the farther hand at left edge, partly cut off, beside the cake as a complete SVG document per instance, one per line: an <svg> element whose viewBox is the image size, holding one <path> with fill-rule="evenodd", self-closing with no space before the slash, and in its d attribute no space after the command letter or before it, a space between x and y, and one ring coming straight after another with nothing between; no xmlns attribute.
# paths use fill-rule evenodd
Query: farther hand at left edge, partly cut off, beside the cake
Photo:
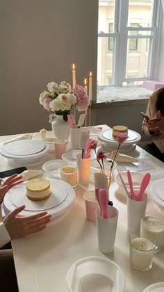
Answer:
<svg viewBox="0 0 164 292"><path fill-rule="evenodd" d="M17 174L12 175L11 177L8 177L6 181L4 181L0 186L0 204L3 202L3 198L12 188L13 186L16 186L17 184L20 184L22 182L22 176L17 177Z"/></svg>

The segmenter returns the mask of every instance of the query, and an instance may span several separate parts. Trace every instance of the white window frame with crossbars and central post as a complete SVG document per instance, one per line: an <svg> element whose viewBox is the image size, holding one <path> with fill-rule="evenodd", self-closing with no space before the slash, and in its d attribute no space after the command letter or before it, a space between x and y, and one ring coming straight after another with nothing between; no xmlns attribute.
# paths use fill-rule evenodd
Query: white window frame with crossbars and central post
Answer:
<svg viewBox="0 0 164 292"><path fill-rule="evenodd" d="M101 2L100 2L101 3ZM115 0L113 33L98 33L98 38L113 37L113 65L112 65L112 86L122 86L123 82L129 81L144 81L153 79L155 51L158 49L158 38L161 31L160 17L161 17L161 0L153 1L153 13L151 15L151 26L138 27L137 31L151 31L151 35L129 35L129 31L136 31L136 27L127 26L128 22L128 8L129 0ZM158 28L158 29L157 29ZM145 38L149 39L151 44L147 51L147 72L149 76L138 78L126 78L126 52L129 39L138 40ZM108 52L111 52L108 51ZM136 50L130 50L137 52ZM123 58L122 58L123 56ZM104 85L105 86L105 85ZM109 85L107 85L109 86Z"/></svg>

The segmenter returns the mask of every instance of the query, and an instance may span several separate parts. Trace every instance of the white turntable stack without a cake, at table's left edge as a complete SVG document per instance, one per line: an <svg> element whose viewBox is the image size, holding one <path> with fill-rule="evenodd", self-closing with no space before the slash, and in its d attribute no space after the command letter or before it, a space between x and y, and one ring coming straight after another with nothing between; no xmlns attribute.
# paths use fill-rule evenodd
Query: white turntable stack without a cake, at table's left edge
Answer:
<svg viewBox="0 0 164 292"><path fill-rule="evenodd" d="M29 166L43 163L49 152L49 144L41 140L18 140L1 146L1 155L13 166Z"/></svg>

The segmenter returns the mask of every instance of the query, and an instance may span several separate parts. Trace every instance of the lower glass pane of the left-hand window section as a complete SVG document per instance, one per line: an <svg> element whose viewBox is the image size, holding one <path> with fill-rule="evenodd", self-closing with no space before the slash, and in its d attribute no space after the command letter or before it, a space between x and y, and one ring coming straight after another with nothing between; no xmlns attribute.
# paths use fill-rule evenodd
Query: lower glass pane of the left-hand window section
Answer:
<svg viewBox="0 0 164 292"><path fill-rule="evenodd" d="M112 83L114 50L108 51L109 43L114 44L114 38L98 38L97 81L99 86Z"/></svg>

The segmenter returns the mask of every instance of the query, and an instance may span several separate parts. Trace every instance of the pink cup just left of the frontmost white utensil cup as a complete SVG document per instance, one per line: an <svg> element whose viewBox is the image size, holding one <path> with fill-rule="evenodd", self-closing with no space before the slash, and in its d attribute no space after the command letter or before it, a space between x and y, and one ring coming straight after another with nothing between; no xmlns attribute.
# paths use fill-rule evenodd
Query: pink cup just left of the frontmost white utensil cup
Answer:
<svg viewBox="0 0 164 292"><path fill-rule="evenodd" d="M95 197L95 190L88 190L88 192L84 193L83 198L85 200L86 218L89 221L96 222L95 210L99 206L99 203Z"/></svg>

